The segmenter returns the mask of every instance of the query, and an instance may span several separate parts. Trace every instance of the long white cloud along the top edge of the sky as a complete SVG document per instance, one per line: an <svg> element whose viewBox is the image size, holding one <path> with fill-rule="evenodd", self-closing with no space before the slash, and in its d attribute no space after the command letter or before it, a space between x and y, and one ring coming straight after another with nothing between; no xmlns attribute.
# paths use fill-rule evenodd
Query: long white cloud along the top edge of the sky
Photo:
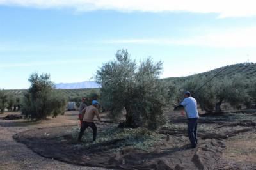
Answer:
<svg viewBox="0 0 256 170"><path fill-rule="evenodd" d="M0 0L0 4L36 8L75 8L79 11L218 13L219 17L256 15L254 0Z"/></svg>

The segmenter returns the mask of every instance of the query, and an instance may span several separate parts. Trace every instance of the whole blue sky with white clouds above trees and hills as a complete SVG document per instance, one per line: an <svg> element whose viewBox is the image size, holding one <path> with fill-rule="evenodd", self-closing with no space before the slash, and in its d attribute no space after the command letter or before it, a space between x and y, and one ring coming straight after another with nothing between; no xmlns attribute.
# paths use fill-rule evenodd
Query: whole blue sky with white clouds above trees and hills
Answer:
<svg viewBox="0 0 256 170"><path fill-rule="evenodd" d="M137 61L163 61L161 77L255 63L253 6L250 0L0 0L0 89L28 88L33 72L50 73L56 83L88 81L118 49Z"/></svg>

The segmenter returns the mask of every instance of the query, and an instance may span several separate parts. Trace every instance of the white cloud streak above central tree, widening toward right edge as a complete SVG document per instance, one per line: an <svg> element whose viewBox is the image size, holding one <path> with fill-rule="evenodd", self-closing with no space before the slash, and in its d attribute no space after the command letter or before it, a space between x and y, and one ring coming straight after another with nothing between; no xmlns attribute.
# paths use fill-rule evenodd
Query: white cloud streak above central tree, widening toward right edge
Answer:
<svg viewBox="0 0 256 170"><path fill-rule="evenodd" d="M156 45L192 45L202 47L256 47L256 27L225 30L187 38L145 38L108 40L103 43L135 43Z"/></svg>

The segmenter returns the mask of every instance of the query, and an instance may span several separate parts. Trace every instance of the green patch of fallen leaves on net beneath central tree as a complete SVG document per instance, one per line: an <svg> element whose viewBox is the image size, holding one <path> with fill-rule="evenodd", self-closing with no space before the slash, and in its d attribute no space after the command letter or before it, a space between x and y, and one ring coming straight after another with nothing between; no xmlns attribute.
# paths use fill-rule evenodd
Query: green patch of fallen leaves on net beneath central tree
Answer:
<svg viewBox="0 0 256 170"><path fill-rule="evenodd" d="M74 128L74 139L77 139L79 133L79 128ZM147 130L145 128L117 128L109 127L104 130L99 130L97 134L97 140L95 143L92 143L92 130L86 129L83 135L83 147L90 147L95 144L106 143L108 141L113 141L115 139L120 139L115 145L113 150L122 150L126 146L131 146L137 150L148 151L154 148L156 143L165 139L165 135L157 134L154 131ZM104 147L104 146L102 146ZM108 147L108 146L106 146Z"/></svg>

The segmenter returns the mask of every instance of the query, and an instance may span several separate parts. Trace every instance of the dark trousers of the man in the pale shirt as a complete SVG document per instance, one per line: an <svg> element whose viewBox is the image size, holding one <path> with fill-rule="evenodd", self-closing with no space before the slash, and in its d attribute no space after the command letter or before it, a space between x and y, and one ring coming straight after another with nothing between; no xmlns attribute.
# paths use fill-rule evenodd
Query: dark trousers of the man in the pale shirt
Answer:
<svg viewBox="0 0 256 170"><path fill-rule="evenodd" d="M197 144L197 122L198 118L188 119L188 137L192 146Z"/></svg>

